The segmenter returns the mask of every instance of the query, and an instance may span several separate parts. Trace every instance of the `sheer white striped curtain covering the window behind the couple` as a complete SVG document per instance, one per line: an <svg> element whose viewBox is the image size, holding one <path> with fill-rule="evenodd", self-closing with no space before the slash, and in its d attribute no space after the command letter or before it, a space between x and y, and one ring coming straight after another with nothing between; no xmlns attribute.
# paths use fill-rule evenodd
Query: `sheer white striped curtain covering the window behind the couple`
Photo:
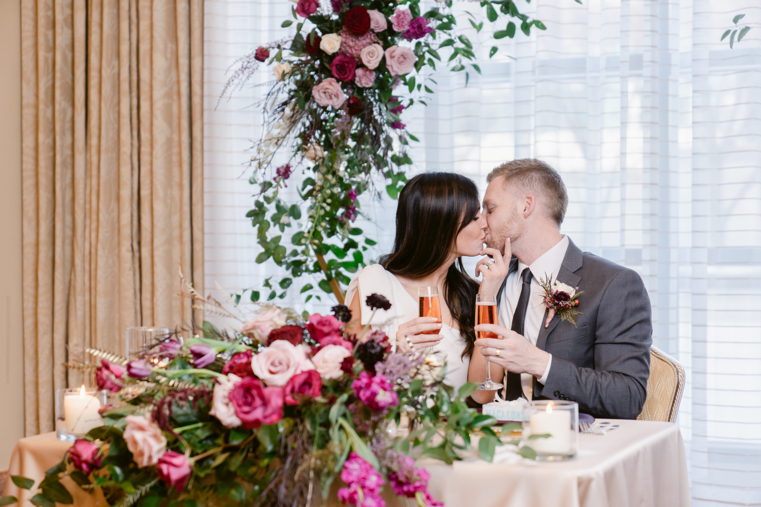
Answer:
<svg viewBox="0 0 761 507"><path fill-rule="evenodd" d="M693 505L761 505L761 30L735 49L718 41L734 14L761 22L761 5L553 0L521 8L546 32L501 40L489 60L488 34L463 28L481 41L483 75L471 73L467 87L462 74L431 76L430 106L405 112L422 141L415 170L458 171L484 189L505 160L555 166L571 197L563 232L642 274L654 343L686 368L678 423ZM256 108L244 106L263 87L214 106L224 70L285 36L279 25L289 10L288 2L206 0L205 287L250 287L277 271L253 262L256 239L244 217L252 188L239 177L247 139L259 132ZM380 219L361 226L373 227L376 253L388 249L393 201L362 206ZM298 293L285 302L298 304Z"/></svg>

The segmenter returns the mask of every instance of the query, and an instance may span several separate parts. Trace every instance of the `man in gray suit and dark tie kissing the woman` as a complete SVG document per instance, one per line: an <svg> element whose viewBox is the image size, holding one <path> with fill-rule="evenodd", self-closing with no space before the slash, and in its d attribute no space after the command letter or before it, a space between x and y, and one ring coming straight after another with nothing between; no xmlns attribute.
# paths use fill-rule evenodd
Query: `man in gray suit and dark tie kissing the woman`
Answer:
<svg viewBox="0 0 761 507"><path fill-rule="evenodd" d="M494 260L479 261L479 291L498 291L501 326L479 325L476 331L503 339L476 340L473 360L486 358L507 371L508 400L521 395L570 400L594 417L635 419L645 403L652 343L650 299L642 278L581 252L560 233L568 193L549 164L513 160L492 170L486 181L488 248L482 254ZM576 325L561 315L548 318L540 285L547 277L567 285L566 290L584 291L572 298L583 313ZM496 381L498 369L492 367ZM473 393L482 403L489 396L493 391Z"/></svg>

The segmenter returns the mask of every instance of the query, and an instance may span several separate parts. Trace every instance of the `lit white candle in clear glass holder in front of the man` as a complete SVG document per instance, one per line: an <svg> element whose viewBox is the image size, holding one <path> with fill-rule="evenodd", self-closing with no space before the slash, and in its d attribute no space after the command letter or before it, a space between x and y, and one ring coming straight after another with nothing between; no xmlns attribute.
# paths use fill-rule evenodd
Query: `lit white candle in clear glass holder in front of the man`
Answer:
<svg viewBox="0 0 761 507"><path fill-rule="evenodd" d="M527 445L537 452L538 460L562 461L576 455L578 403L532 401L530 407L524 408L523 414L523 436L527 439Z"/></svg>

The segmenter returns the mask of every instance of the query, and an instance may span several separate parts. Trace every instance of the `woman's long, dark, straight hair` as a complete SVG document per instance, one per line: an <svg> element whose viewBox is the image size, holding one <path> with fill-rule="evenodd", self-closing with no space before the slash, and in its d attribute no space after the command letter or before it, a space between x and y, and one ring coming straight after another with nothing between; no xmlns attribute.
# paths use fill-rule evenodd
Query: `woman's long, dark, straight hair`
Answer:
<svg viewBox="0 0 761 507"><path fill-rule="evenodd" d="M410 179L399 195L393 250L380 256L380 265L393 274L422 278L441 268L457 242L457 235L481 209L478 187L455 173L422 173ZM462 258L449 267L444 300L460 325L470 357L476 341L475 308L479 284L465 274Z"/></svg>

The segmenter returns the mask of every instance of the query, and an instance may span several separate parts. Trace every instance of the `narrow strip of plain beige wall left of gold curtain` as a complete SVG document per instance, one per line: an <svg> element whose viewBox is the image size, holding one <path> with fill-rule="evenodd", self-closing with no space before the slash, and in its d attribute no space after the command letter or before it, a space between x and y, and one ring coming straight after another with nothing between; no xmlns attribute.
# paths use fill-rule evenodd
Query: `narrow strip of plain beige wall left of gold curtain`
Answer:
<svg viewBox="0 0 761 507"><path fill-rule="evenodd" d="M20 4L0 0L0 470L24 436Z"/></svg>

